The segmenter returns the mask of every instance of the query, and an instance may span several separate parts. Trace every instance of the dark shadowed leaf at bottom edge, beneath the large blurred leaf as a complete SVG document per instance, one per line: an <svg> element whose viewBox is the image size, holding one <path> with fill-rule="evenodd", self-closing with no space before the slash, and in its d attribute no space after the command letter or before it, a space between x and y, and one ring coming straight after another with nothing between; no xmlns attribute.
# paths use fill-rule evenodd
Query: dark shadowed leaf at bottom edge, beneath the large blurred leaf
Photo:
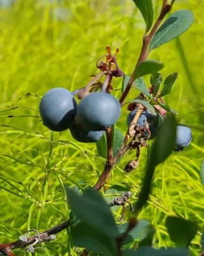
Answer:
<svg viewBox="0 0 204 256"><path fill-rule="evenodd" d="M71 227L71 235L75 245L94 252L104 253L107 256L116 256L115 239L105 236L98 229L80 221Z"/></svg>

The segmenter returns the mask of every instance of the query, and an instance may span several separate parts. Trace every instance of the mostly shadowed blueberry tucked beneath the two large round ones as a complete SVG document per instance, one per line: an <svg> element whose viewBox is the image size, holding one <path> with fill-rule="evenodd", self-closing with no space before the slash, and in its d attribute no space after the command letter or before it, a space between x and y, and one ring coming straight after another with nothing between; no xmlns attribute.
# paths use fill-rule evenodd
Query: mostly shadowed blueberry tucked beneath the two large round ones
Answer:
<svg viewBox="0 0 204 256"><path fill-rule="evenodd" d="M86 131L75 124L71 125L69 129L73 138L80 142L96 142L103 135L103 131Z"/></svg>

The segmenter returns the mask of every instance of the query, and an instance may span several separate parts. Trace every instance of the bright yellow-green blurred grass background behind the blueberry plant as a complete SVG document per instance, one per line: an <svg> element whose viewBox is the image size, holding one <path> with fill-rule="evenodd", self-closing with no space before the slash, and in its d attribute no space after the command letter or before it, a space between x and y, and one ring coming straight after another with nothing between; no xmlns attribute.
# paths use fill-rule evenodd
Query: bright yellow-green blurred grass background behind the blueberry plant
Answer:
<svg viewBox="0 0 204 256"><path fill-rule="evenodd" d="M96 146L74 141L69 131L50 131L40 122L40 97L50 88L75 90L96 74L96 60L109 45L118 47L120 68L131 75L140 54L145 28L142 16L131 0L18 0L0 8L0 241L18 239L29 228L42 231L68 218L66 186L93 186L104 161ZM154 1L159 13L162 1ZM203 187L200 165L203 159L204 72L202 0L178 0L173 11L192 10L193 26L179 39L154 50L149 58L163 61L163 77L179 72L173 93L165 98L193 129L193 142L181 154L173 153L158 166L149 206L140 214L157 228L156 246L173 246L164 221L166 214L197 221L204 230ZM148 82L149 77L146 77ZM122 79L115 79L120 88ZM149 84L148 84L149 85ZM132 89L128 99L137 91ZM120 90L115 92L120 97ZM126 106L117 126L126 132ZM13 116L13 117L8 117ZM51 145L51 147L50 147ZM142 184L148 152L143 149L140 166L126 175L124 166L133 159L126 154L112 172L110 186L131 189L135 198ZM48 161L48 163L47 163ZM47 173L46 166L50 169ZM106 195L108 196L108 195ZM119 218L122 209L113 214ZM128 216L127 216L128 219ZM200 235L191 243L193 255L201 250ZM44 244L35 255L68 255L71 241L66 232ZM16 250L15 255L28 255Z"/></svg>

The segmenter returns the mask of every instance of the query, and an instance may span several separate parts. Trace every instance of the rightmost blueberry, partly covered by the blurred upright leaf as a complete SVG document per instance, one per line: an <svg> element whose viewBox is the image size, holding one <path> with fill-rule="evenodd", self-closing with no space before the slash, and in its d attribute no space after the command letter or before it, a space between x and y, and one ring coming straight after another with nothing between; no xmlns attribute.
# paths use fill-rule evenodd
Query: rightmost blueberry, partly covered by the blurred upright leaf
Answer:
<svg viewBox="0 0 204 256"><path fill-rule="evenodd" d="M189 127L178 125L177 126L177 139L174 151L182 151L187 147L192 140L192 132Z"/></svg>

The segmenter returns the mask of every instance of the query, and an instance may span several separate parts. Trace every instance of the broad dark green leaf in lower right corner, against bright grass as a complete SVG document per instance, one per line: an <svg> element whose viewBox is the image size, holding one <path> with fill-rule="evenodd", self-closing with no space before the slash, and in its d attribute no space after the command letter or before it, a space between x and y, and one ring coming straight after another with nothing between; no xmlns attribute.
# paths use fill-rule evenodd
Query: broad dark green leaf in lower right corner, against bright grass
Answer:
<svg viewBox="0 0 204 256"><path fill-rule="evenodd" d="M197 223L179 217L168 216L166 227L171 240L178 247L188 247L198 231Z"/></svg>

